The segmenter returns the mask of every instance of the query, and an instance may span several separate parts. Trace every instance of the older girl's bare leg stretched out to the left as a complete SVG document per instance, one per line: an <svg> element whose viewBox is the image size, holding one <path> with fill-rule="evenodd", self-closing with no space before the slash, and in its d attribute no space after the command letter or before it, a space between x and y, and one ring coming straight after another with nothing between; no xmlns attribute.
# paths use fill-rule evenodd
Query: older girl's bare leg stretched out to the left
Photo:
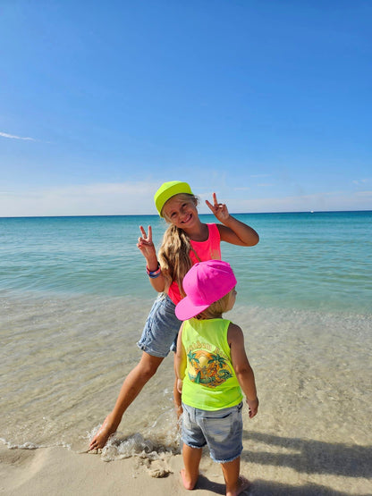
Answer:
<svg viewBox="0 0 372 496"><path fill-rule="evenodd" d="M123 413L131 405L131 402L139 395L143 386L156 374L157 367L164 358L152 357L146 351L142 353L137 366L126 376L122 389L113 411L106 416L105 422L89 444L89 450L103 448L109 436L116 431L122 421Z"/></svg>

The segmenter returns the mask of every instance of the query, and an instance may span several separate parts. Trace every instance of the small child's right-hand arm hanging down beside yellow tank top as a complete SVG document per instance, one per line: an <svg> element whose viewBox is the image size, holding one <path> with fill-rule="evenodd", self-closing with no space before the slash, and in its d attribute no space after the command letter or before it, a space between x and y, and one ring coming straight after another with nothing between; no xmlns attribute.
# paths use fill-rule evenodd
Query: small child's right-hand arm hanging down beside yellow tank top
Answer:
<svg viewBox="0 0 372 496"><path fill-rule="evenodd" d="M236 377L241 384L241 389L246 396L249 406L249 417L257 415L258 397L256 390L255 374L249 365L244 348L244 336L239 325L230 324L227 331L227 341L232 354L232 366Z"/></svg>

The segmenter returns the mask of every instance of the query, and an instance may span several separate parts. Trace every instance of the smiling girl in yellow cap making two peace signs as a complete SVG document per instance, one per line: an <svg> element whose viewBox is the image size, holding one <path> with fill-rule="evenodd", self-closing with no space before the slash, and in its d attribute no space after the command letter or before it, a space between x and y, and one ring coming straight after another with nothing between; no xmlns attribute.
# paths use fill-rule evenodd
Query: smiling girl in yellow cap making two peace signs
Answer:
<svg viewBox="0 0 372 496"><path fill-rule="evenodd" d="M221 259L220 240L240 246L254 246L258 233L229 214L227 206L206 201L220 223L202 223L199 219L196 198L187 182L165 182L155 194L157 212L170 224L165 231L159 256L152 241L151 226L148 232L139 227L141 237L137 244L145 257L149 281L161 295L148 315L148 320L137 343L142 349L139 364L127 375L113 411L89 444L89 450L103 448L114 433L123 413L137 397L139 391L156 374L170 349L175 349L177 333L182 324L174 314L175 305L184 296L182 279L190 267L200 260ZM174 401L181 408L181 398L174 388Z"/></svg>

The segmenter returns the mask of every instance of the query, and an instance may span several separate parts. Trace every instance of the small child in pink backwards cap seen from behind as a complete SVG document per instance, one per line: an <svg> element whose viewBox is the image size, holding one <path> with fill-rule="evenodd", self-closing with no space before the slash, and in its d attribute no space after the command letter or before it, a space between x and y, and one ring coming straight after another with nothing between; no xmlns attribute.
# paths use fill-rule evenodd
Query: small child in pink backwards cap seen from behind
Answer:
<svg viewBox="0 0 372 496"><path fill-rule="evenodd" d="M238 325L222 317L235 303L235 285L227 262L200 262L185 275L183 289L187 296L175 308L178 318L185 321L174 357L183 407L182 483L186 489L194 489L202 447L207 444L211 458L221 464L227 496L236 496L249 487L249 481L239 475L241 390L249 417L258 412L256 383L243 333Z"/></svg>

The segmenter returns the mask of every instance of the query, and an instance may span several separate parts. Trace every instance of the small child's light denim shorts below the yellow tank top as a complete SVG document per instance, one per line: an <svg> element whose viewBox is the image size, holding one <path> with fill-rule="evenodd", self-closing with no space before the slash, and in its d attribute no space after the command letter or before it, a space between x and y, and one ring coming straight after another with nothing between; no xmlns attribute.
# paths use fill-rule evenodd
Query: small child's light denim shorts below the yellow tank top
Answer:
<svg viewBox="0 0 372 496"><path fill-rule="evenodd" d="M187 446L202 448L207 444L210 458L217 463L227 463L241 456L242 402L215 411L199 410L183 403L182 407L182 441Z"/></svg>

